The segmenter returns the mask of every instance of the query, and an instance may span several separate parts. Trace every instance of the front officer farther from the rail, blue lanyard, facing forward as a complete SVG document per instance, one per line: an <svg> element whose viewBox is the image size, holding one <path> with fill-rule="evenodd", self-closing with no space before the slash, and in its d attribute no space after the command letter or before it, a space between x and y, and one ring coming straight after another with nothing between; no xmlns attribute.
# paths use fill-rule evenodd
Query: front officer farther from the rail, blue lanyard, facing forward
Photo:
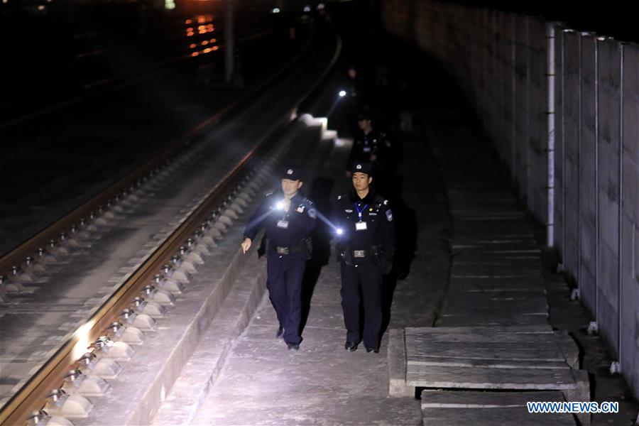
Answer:
<svg viewBox="0 0 639 426"><path fill-rule="evenodd" d="M370 186L373 178L369 163L355 163L351 172L353 190L337 197L332 214L342 271L344 348L355 351L364 338L366 351L377 353L382 324L382 275L393 268L393 212L388 200ZM363 333L360 303L364 305Z"/></svg>

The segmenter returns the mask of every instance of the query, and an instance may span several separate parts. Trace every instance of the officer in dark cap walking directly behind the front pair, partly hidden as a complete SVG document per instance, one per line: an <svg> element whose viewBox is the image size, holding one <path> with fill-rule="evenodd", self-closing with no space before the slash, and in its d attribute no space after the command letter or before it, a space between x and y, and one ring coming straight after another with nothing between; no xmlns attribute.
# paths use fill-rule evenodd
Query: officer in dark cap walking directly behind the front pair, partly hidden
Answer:
<svg viewBox="0 0 639 426"><path fill-rule="evenodd" d="M373 129L373 117L368 111L359 113L357 126L359 132L346 160L346 176L351 177L351 169L356 163L370 163L376 179L379 180L380 175L392 172L394 158L391 141L386 133Z"/></svg>

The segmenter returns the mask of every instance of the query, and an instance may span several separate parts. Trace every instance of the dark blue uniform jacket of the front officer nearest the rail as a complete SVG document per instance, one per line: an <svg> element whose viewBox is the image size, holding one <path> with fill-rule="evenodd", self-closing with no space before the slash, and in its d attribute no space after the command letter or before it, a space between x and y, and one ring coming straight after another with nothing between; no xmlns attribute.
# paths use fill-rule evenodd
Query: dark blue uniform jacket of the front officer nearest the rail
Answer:
<svg viewBox="0 0 639 426"><path fill-rule="evenodd" d="M283 199L281 190L268 192L249 219L244 229L244 237L254 240L264 226L269 249L274 249L275 246L299 249L302 240L306 239L315 227L315 207L298 192L291 198L290 207L286 212L277 207L278 202Z"/></svg>

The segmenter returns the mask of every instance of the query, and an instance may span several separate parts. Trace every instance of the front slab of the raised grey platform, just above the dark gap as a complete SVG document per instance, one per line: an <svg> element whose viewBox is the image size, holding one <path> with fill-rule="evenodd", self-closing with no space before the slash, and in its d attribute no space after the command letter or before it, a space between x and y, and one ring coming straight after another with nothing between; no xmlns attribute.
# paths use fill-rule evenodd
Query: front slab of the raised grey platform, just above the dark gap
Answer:
<svg viewBox="0 0 639 426"><path fill-rule="evenodd" d="M570 368L442 367L408 364L406 383L422 388L572 390Z"/></svg>

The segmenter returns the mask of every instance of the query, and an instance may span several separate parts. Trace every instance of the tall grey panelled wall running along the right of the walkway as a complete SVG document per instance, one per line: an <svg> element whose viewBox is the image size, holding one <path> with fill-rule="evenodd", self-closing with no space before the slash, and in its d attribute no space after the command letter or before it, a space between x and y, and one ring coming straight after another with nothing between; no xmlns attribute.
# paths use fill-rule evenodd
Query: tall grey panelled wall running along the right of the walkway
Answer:
<svg viewBox="0 0 639 426"><path fill-rule="evenodd" d="M447 67L639 395L639 46L541 18L383 0Z"/></svg>

